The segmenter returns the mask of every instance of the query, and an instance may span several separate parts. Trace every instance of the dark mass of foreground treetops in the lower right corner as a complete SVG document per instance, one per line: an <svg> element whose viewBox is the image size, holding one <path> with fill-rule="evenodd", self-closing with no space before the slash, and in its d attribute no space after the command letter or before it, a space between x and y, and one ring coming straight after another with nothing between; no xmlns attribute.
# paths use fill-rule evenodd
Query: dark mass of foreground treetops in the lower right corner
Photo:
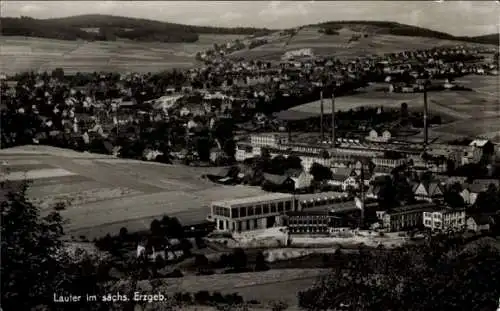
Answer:
<svg viewBox="0 0 500 311"><path fill-rule="evenodd" d="M363 252L299 293L306 310L495 310L499 250L459 240ZM487 276L487 277L485 277Z"/></svg>

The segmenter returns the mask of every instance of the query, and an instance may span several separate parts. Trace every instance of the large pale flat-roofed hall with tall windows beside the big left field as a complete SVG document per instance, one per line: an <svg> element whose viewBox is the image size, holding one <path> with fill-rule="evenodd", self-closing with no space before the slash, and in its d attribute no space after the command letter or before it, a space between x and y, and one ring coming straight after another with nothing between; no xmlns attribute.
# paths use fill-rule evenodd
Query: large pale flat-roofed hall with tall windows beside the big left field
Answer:
<svg viewBox="0 0 500 311"><path fill-rule="evenodd" d="M270 193L261 196L217 201L210 206L215 228L241 232L279 225L281 216L296 210L292 194Z"/></svg>

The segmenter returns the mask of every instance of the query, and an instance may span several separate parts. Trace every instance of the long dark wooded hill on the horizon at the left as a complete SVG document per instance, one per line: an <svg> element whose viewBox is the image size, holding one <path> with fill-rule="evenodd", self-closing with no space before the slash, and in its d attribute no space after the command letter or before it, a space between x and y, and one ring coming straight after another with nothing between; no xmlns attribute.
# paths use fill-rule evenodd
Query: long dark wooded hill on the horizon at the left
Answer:
<svg viewBox="0 0 500 311"><path fill-rule="evenodd" d="M60 40L114 41L117 38L124 38L136 41L196 42L199 34L255 35L270 32L264 28L190 26L98 14L53 19L3 17L0 21L3 36ZM86 31L88 29L95 31Z"/></svg>

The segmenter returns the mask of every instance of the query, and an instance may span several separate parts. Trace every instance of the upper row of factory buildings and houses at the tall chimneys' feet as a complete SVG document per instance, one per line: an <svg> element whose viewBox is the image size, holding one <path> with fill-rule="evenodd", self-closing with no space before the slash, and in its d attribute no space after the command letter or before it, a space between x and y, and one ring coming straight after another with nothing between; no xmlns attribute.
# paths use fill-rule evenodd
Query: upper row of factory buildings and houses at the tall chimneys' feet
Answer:
<svg viewBox="0 0 500 311"><path fill-rule="evenodd" d="M382 134L382 136L389 135L385 132ZM253 134L249 142L237 144L235 157L237 161L245 162L247 159L262 156L263 150L268 152L271 158L278 155L296 156L301 160L302 172L299 174L294 172L294 175L267 176L270 181L292 183L297 191L308 188L312 182L311 167L317 163L331 170L332 178L327 182L329 185L347 191L359 189L361 185L369 185L375 178L390 175L392 170L403 165L409 167L415 176L426 172L439 175L447 172L450 161L456 166L478 163L484 155L495 153L495 147L491 142L480 139L472 141L469 146L431 145L425 155L423 149L414 147L382 144L380 141L373 143L352 140L352 142L341 142L336 148L331 148L320 143L290 142L287 136L282 134ZM391 148L397 152L396 155L387 154L387 150Z"/></svg>

